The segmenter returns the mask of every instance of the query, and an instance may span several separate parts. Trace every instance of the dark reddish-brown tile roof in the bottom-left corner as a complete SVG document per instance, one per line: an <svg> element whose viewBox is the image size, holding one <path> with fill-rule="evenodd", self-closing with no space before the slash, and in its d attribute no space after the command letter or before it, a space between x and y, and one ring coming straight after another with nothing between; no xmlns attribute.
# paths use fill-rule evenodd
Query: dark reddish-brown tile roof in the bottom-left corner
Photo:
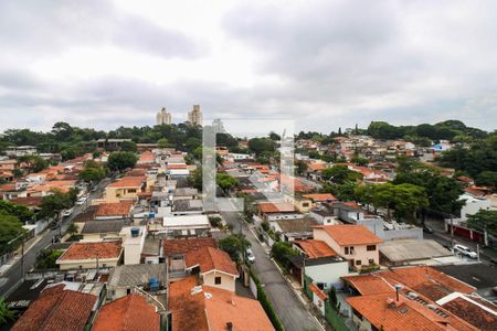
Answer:
<svg viewBox="0 0 497 331"><path fill-rule="evenodd" d="M57 285L43 290L15 322L13 331L82 331L97 297Z"/></svg>

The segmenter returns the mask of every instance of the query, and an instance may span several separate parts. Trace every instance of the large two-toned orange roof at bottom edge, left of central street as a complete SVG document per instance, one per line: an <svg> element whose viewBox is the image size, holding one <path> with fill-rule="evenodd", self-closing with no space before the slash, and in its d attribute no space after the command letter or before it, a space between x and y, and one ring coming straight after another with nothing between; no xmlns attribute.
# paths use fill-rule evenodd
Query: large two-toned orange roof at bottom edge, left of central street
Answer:
<svg viewBox="0 0 497 331"><path fill-rule="evenodd" d="M172 330L225 330L228 322L233 330L274 330L257 300L209 286L201 286L201 291L192 293L195 286L194 276L170 284Z"/></svg>

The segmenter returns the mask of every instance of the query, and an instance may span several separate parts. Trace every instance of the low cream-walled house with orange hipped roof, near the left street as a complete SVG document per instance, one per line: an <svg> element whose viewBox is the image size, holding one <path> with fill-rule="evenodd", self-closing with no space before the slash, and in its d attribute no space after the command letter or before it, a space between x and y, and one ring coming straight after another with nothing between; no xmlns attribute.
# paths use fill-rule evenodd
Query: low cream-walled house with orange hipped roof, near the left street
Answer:
<svg viewBox="0 0 497 331"><path fill-rule="evenodd" d="M61 270L115 267L123 255L120 241L74 243L56 260Z"/></svg>

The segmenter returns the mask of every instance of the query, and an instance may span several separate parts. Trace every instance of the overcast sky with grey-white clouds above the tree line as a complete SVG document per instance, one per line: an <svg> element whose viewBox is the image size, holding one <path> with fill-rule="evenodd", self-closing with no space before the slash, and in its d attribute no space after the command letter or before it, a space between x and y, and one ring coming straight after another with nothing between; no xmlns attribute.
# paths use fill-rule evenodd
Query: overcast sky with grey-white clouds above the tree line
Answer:
<svg viewBox="0 0 497 331"><path fill-rule="evenodd" d="M0 50L0 130L152 125L163 106L178 122L193 104L325 132L497 127L495 1L1 0Z"/></svg>

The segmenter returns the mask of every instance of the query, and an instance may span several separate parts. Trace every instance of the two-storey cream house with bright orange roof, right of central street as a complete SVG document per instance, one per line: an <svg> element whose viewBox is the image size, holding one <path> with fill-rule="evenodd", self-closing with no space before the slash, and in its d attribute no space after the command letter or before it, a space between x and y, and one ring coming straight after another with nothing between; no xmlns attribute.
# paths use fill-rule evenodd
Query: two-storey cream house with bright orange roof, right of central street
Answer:
<svg viewBox="0 0 497 331"><path fill-rule="evenodd" d="M314 238L324 241L338 255L346 258L350 268L361 269L380 263L378 244L383 241L363 225L315 226Z"/></svg>

